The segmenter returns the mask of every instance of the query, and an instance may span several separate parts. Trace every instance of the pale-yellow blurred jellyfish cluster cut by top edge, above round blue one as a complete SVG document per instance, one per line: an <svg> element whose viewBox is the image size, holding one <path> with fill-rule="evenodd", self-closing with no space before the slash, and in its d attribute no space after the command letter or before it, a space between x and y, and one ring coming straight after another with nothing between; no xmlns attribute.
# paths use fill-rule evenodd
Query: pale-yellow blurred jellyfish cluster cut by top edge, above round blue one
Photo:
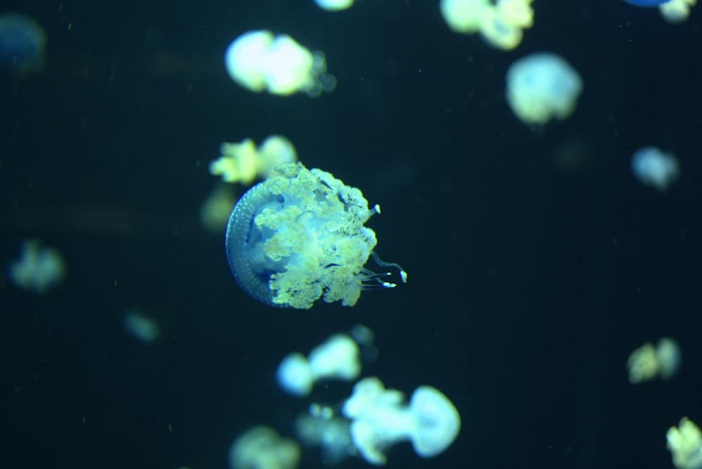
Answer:
<svg viewBox="0 0 702 469"><path fill-rule="evenodd" d="M533 0L441 0L439 9L449 28L462 34L479 32L491 46L509 51L534 25Z"/></svg>

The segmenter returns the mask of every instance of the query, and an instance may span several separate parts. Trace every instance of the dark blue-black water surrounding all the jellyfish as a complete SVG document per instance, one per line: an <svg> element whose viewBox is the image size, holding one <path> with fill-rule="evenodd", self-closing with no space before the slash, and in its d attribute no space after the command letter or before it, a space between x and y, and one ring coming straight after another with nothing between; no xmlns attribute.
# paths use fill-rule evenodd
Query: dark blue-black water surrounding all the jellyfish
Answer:
<svg viewBox="0 0 702 469"><path fill-rule="evenodd" d="M45 296L0 281L0 468L223 468L241 432L291 435L305 408L274 385L279 359L357 323L380 352L364 375L433 385L463 419L441 456L402 444L389 467L672 467L665 431L702 422L702 7L673 26L618 0L536 0L504 52L450 32L437 3L4 3L44 25L48 50L39 76L0 78L0 260L39 237L68 276ZM324 51L336 91L232 83L227 44L260 28ZM541 133L504 99L508 66L534 51L585 84ZM223 140L271 133L382 206L369 226L409 284L309 311L237 287L199 222L206 165ZM665 194L630 173L643 145L680 159ZM159 343L122 331L132 306ZM630 385L628 354L662 336L680 374Z"/></svg>

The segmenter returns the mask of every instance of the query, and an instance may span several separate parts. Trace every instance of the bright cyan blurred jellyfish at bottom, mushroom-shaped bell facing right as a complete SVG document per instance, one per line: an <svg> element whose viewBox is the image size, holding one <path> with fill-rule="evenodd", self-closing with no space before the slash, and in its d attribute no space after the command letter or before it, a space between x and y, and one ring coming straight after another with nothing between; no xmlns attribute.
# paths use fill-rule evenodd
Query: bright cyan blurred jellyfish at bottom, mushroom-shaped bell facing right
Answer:
<svg viewBox="0 0 702 469"><path fill-rule="evenodd" d="M437 456L456 440L461 416L442 392L420 386L409 405L403 407L403 400L402 392L386 390L378 378L365 378L344 403L351 440L367 462L385 464L385 450L404 440L423 458Z"/></svg>

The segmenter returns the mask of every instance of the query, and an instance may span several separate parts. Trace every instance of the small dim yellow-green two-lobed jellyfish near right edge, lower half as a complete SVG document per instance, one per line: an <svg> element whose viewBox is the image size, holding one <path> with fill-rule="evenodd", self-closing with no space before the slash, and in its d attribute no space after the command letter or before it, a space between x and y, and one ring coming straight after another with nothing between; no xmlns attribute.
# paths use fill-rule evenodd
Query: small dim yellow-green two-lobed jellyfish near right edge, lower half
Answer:
<svg viewBox="0 0 702 469"><path fill-rule="evenodd" d="M654 378L668 379L680 369L680 347L671 338L661 338L658 344L644 343L637 348L626 362L629 382L633 384L650 381Z"/></svg>

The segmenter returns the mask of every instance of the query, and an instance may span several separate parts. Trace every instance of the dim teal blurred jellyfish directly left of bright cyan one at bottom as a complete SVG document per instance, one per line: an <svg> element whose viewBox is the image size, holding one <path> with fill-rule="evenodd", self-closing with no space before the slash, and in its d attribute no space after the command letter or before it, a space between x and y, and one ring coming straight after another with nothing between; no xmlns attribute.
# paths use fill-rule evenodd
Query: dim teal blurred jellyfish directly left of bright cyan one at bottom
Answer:
<svg viewBox="0 0 702 469"><path fill-rule="evenodd" d="M307 446L322 447L322 463L336 465L358 451L351 442L350 421L337 416L331 407L311 404L307 414L295 420L295 435Z"/></svg>

